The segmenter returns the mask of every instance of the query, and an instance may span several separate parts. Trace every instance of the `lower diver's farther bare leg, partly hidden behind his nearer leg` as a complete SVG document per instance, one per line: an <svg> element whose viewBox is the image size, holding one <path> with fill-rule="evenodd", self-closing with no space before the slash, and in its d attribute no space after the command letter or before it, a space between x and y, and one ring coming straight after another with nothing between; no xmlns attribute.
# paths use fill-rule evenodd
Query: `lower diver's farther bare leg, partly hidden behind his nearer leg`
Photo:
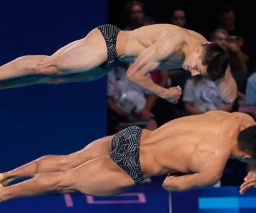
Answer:
<svg viewBox="0 0 256 213"><path fill-rule="evenodd" d="M53 173L70 170L88 160L110 153L111 141L112 136L107 136L93 141L82 150L70 155L43 156L9 172L0 173L0 183L2 185L8 185L8 183L15 178L26 176L33 177L38 173Z"/></svg>

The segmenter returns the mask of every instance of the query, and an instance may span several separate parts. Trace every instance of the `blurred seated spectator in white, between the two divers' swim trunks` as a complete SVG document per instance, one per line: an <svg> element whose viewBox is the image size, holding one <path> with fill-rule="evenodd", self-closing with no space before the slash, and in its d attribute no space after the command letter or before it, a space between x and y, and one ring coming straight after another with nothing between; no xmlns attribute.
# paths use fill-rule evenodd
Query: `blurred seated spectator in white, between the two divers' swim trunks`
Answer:
<svg viewBox="0 0 256 213"><path fill-rule="evenodd" d="M126 78L127 67L117 67L107 75L107 102L110 108L110 134L116 133L127 126L137 125L146 129L157 128L150 108L151 95Z"/></svg>

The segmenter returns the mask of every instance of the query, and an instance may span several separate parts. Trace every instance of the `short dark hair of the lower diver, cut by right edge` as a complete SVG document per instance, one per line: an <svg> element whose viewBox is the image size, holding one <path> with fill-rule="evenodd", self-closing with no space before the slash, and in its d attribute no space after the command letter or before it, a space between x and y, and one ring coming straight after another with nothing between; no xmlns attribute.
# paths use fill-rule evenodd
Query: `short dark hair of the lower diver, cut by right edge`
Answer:
<svg viewBox="0 0 256 213"><path fill-rule="evenodd" d="M238 148L256 159L256 125L240 131L238 134Z"/></svg>

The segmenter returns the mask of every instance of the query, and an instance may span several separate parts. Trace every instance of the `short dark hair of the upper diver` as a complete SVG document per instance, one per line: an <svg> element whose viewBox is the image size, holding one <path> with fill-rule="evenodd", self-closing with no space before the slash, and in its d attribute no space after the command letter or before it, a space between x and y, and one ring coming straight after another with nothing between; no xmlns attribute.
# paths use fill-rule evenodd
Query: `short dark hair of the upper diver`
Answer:
<svg viewBox="0 0 256 213"><path fill-rule="evenodd" d="M202 64L207 67L207 77L210 80L218 80L225 75L228 67L228 53L215 43L204 45Z"/></svg>

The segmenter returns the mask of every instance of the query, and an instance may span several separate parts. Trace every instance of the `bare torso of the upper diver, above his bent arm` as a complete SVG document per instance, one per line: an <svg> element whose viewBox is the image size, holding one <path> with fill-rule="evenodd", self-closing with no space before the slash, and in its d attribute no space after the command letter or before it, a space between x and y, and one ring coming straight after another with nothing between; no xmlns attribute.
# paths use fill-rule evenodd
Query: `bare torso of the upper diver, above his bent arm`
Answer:
<svg viewBox="0 0 256 213"><path fill-rule="evenodd" d="M183 55L181 49L184 44L206 42L206 38L195 31L180 28L171 24L154 24L143 26L134 31L121 31L117 38L117 55L119 60L124 62L133 62L146 48L161 40L169 39L172 45L176 45L177 54L171 55L168 59L171 64L166 65L169 68L181 68L181 63L177 64L175 60L181 60Z"/></svg>

